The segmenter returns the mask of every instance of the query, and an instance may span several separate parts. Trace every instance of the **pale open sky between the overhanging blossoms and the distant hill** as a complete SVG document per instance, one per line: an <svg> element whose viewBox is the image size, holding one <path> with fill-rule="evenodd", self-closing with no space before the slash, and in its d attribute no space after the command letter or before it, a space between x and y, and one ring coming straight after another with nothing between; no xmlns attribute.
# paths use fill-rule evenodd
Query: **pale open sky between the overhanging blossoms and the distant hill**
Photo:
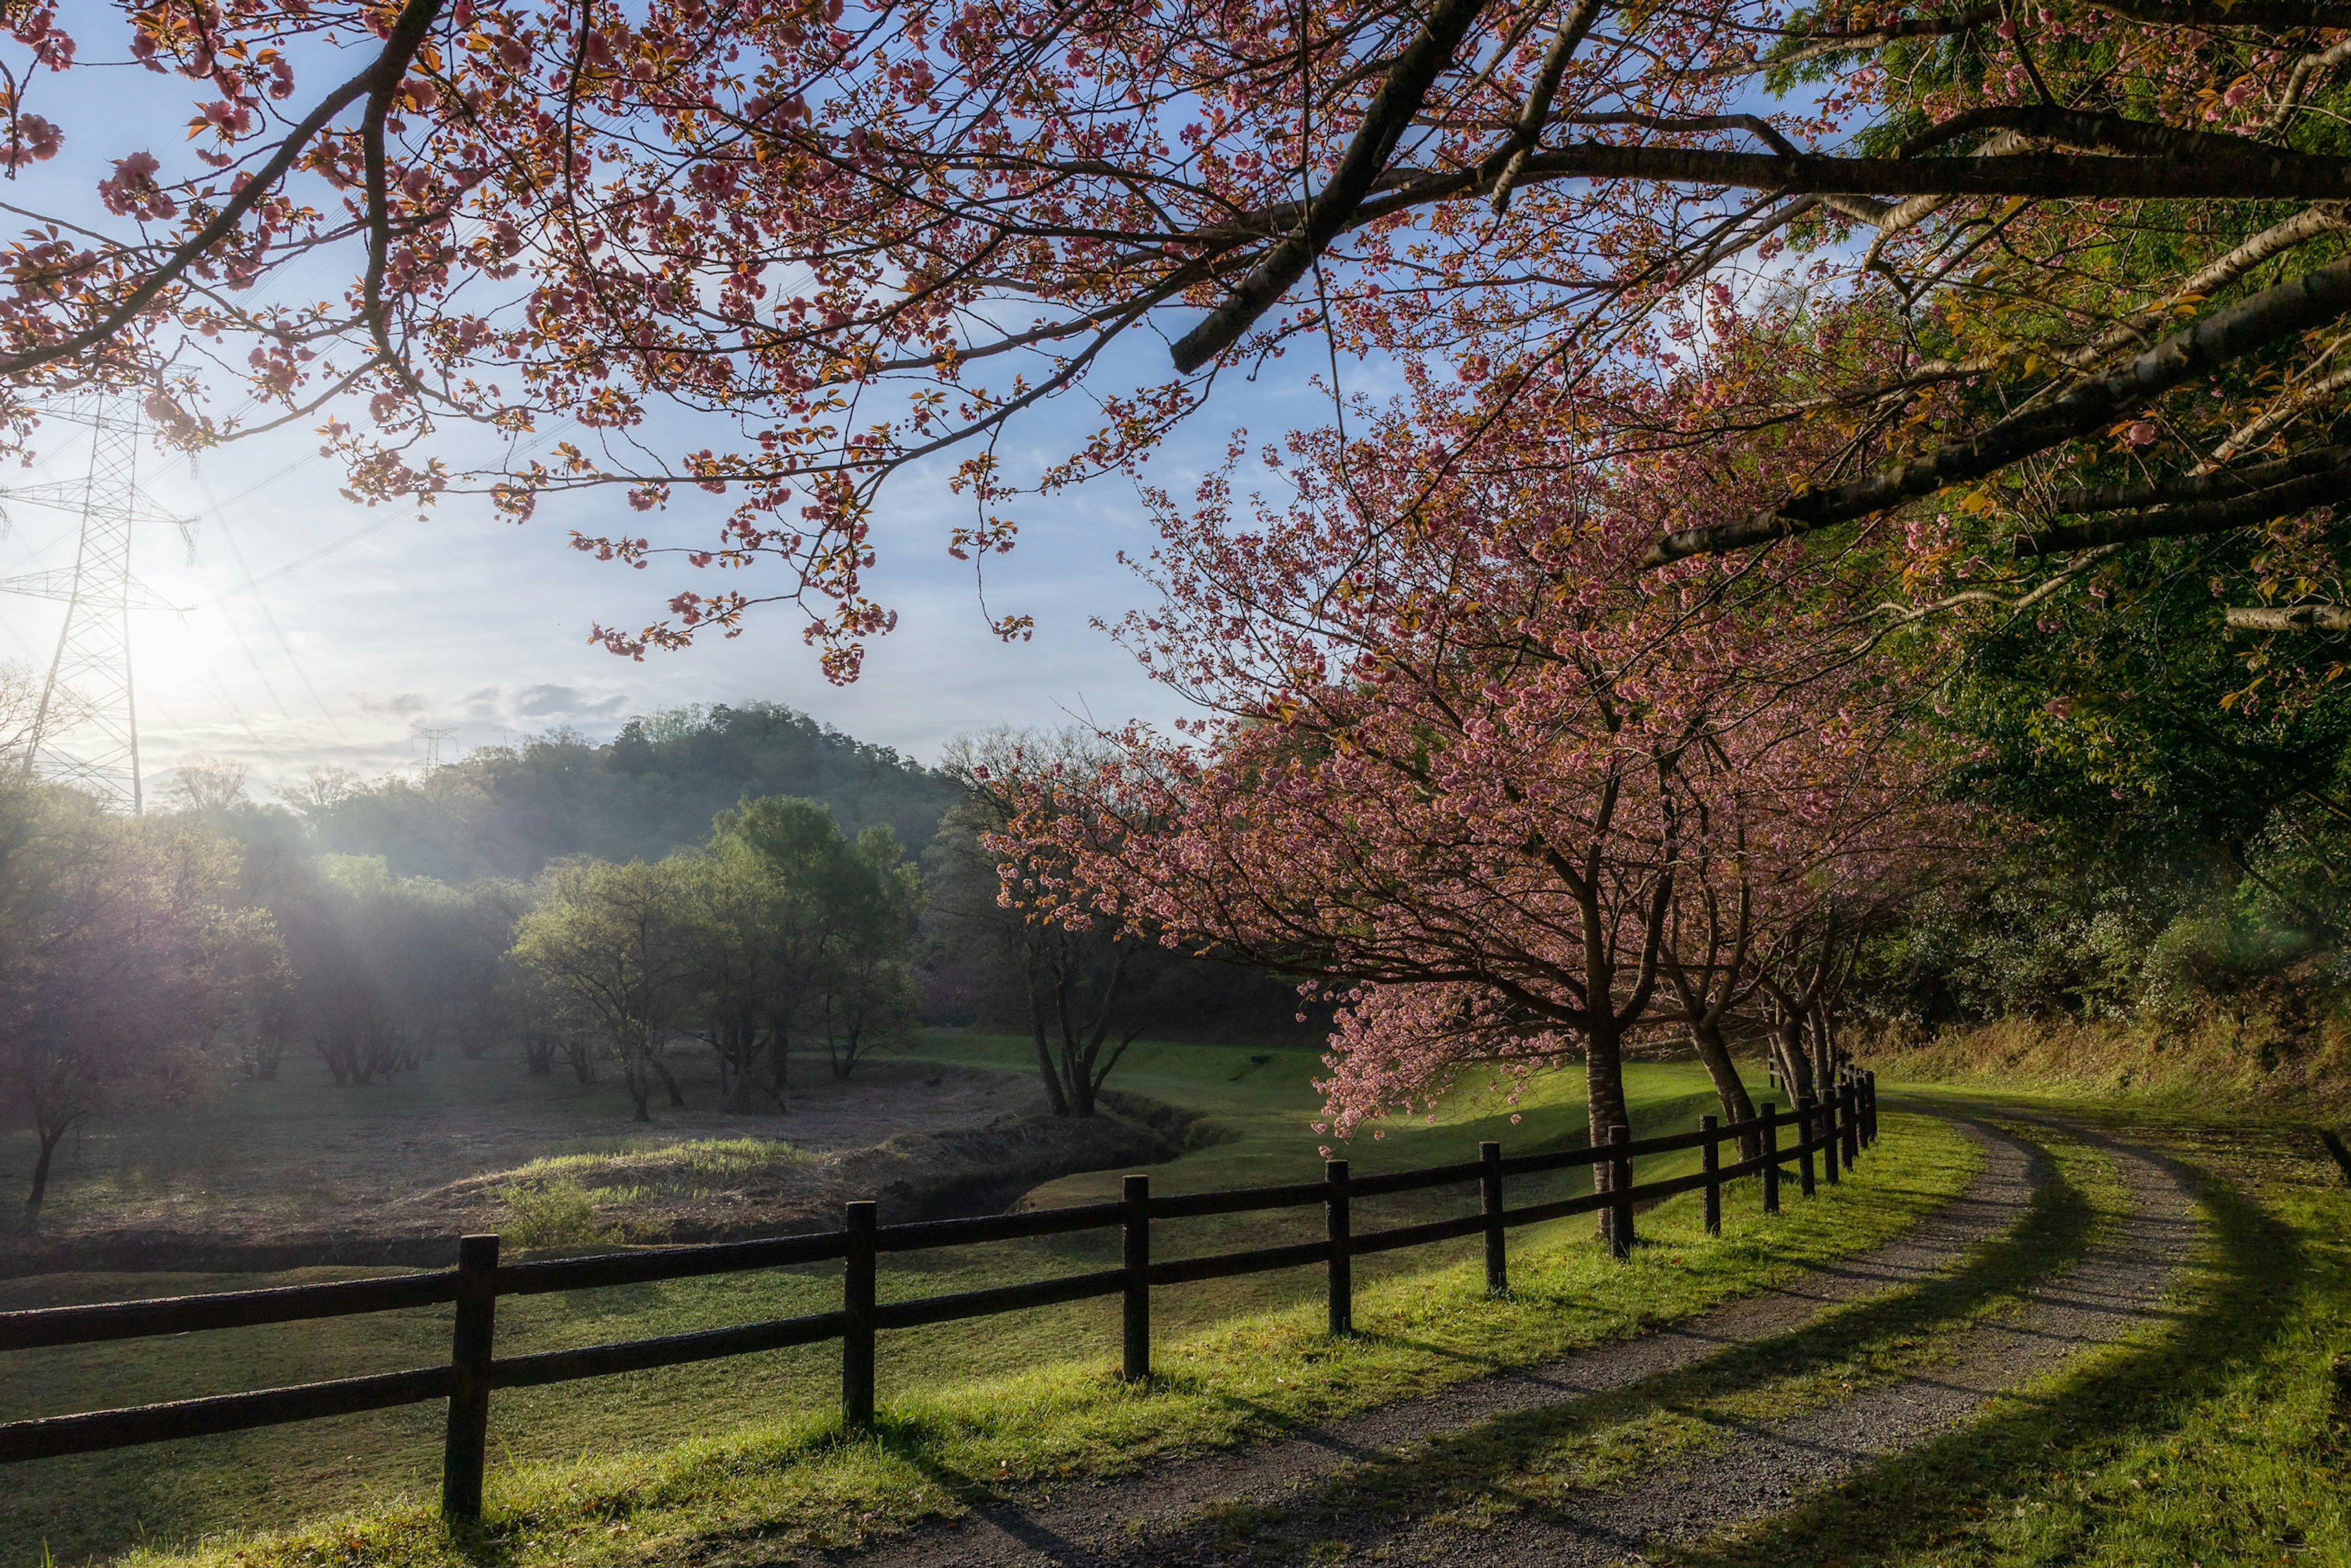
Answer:
<svg viewBox="0 0 2351 1568"><path fill-rule="evenodd" d="M1199 435L1215 440L1187 437L1185 447L1218 451L1230 418L1213 425ZM75 475L73 433L59 428L56 440L40 468L0 480ZM1185 451L1154 468L1164 480L1192 473ZM708 588L710 574L668 562L628 571L569 550L567 527L597 522L583 508L545 508L524 527L496 522L470 498L423 522L404 508L367 510L336 494L334 465L306 437L230 444L193 470L183 456L146 449L141 482L162 508L197 520L193 564L169 527L134 538L134 576L188 607L134 616L150 788L193 755L242 759L256 783L313 764L374 776L421 757L414 724L456 726L449 755L555 724L607 736L630 712L677 703L790 703L924 759L947 736L992 724L1173 712L1173 698L1089 628L1091 616L1145 602L1143 583L1117 564L1121 548L1150 548L1126 480L1018 510L1023 543L990 562L987 599L999 614L1032 614L1037 635L1002 644L987 632L971 567L945 552L966 503L938 473L903 475L884 508L875 574L900 623L870 646L865 677L846 689L823 679L790 607L759 614L734 642L644 663L588 646L592 621L642 625L672 592L668 583ZM0 576L73 564L73 517L12 505L9 520ZM607 522L647 527L635 512L607 512ZM689 541L701 534L679 515L665 527ZM0 597L0 658L47 668L61 618L61 604Z"/></svg>

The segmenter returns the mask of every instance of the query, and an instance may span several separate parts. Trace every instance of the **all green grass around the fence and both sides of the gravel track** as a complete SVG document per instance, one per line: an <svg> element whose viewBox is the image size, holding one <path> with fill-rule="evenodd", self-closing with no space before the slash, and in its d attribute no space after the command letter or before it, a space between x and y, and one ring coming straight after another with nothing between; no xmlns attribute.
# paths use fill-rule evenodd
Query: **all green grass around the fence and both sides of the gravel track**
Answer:
<svg viewBox="0 0 2351 1568"><path fill-rule="evenodd" d="M1030 1048L936 1034L922 1060L1016 1077L1030 1070ZM1140 1046L1121 1067L1124 1091L1183 1110L1194 1143L1152 1168L1154 1190L1312 1175L1314 1072L1307 1051ZM1690 1067L1636 1067L1632 1091L1641 1131L1688 1126L1709 1107ZM1681 1561L2351 1563L2351 1190L2309 1128L2243 1114L2165 1117L2144 1105L2125 1114L2111 1100L2062 1091L1975 1107L2109 1119L2118 1133L2172 1152L2196 1175L2217 1222L2215 1246L2142 1338L2092 1352L2001 1401L1989 1420ZM1380 1171L1458 1159L1479 1138L1540 1150L1582 1135L1573 1077L1538 1084L1516 1112L1514 1124L1498 1100L1467 1095L1434 1124L1387 1128L1347 1154L1357 1168ZM1636 1333L1869 1246L1975 1168L1972 1145L1940 1119L1890 1107L1886 1131L1860 1180L1822 1187L1820 1201L1791 1204L1782 1220L1766 1222L1751 1190L1737 1192L1721 1241L1700 1234L1695 1199L1657 1208L1643 1218L1646 1246L1629 1267L1606 1260L1587 1222L1514 1232L1507 1300L1483 1298L1476 1241L1364 1260L1361 1333L1345 1342L1319 1333L1319 1269L1166 1291L1154 1300L1159 1375L1150 1389L1114 1380L1117 1305L1089 1302L886 1335L882 1427L865 1439L839 1432L832 1347L501 1394L489 1519L458 1535L428 1507L435 1406L14 1467L14 1488L0 1500L0 1561L536 1568L750 1563L792 1547L844 1547L952 1516L997 1488L1270 1436ZM2059 1180L2027 1222L1925 1291L1831 1314L1709 1368L1702 1385L1653 1380L1349 1483L1387 1488L1399 1502L1436 1486L1519 1507L1735 1441L1742 1422L1831 1399L1853 1382L1925 1368L1937 1333L2012 1302L2114 1222L2121 1187L2106 1161L2092 1147L2050 1143ZM1657 1161L1643 1175L1672 1168ZM1070 1175L1032 1201L1107 1197L1117 1178ZM1359 1225L1408 1222L1465 1201L1380 1199L1364 1204ZM1317 1225L1312 1211L1201 1220L1164 1237L1159 1255L1307 1237ZM884 1295L1103 1267L1112 1246L1103 1234L891 1258ZM292 1276L52 1276L0 1288L0 1305L277 1279ZM501 1307L501 1347L806 1312L835 1293L835 1274L811 1269L515 1300ZM444 1347L444 1312L418 1312L35 1352L12 1356L0 1418L416 1366L442 1359Z"/></svg>

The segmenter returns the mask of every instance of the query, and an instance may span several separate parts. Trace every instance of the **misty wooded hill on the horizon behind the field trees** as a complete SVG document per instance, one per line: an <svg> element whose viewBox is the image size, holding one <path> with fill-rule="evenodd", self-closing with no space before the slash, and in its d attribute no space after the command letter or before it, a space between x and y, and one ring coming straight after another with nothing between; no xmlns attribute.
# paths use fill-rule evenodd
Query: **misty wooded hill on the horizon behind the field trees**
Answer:
<svg viewBox="0 0 2351 1568"><path fill-rule="evenodd" d="M484 748L421 780L362 785L308 816L329 853L383 856L397 877L529 877L562 856L658 858L745 795L809 795L842 827L898 830L919 856L955 785L778 703L630 719L609 745L555 731Z"/></svg>

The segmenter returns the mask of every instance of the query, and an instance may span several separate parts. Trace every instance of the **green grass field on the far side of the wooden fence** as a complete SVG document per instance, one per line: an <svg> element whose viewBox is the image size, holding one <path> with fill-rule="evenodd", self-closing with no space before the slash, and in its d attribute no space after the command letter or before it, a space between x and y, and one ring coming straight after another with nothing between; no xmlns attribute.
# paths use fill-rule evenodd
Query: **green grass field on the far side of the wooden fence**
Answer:
<svg viewBox="0 0 2351 1568"><path fill-rule="evenodd" d="M1032 1072L1030 1046L1011 1039L938 1034L924 1060L1018 1077ZM1145 1044L1119 1070L1119 1084L1180 1107L1199 1147L1152 1168L1154 1190L1187 1192L1319 1173L1310 1131L1319 1060L1310 1051ZM1632 1081L1646 1131L1688 1126L1712 1100L1688 1067L1641 1067ZM1514 1150L1559 1147L1582 1135L1580 1084L1563 1074L1540 1084L1512 1126L1500 1105L1469 1098L1448 1119L1359 1138L1349 1157L1366 1171L1465 1159L1479 1138ZM1660 1173L1669 1168L1660 1164ZM1077 1175L1032 1194L1037 1204L1086 1201L1117 1190L1119 1173ZM1554 1180L1526 1197L1573 1190ZM1467 1194L1413 1194L1366 1204L1359 1225L1408 1222L1458 1213ZM1171 1225L1161 1255L1225 1251L1291 1234L1319 1234L1317 1211L1232 1215ZM1105 1267L1114 1234L891 1258L884 1295L910 1298L1053 1272ZM1413 1255L1364 1260L1361 1279L1425 1269L1472 1255L1474 1241ZM346 1279L362 1269L287 1274L49 1274L0 1281L0 1307L66 1300L172 1295L308 1279ZM1211 1331L1239 1316L1281 1312L1319 1295L1312 1269L1215 1281L1168 1291L1154 1302L1168 1338ZM501 1349L588 1345L698 1326L783 1316L837 1302L835 1269L790 1269L665 1286L524 1298L501 1305ZM1117 1349L1117 1302L1086 1302L990 1319L985 1328L938 1326L893 1333L882 1347L884 1401L922 1399L943 1387L1006 1368L1098 1368ZM132 1345L26 1352L0 1385L0 1420L150 1399L228 1392L334 1378L447 1356L447 1309L292 1324ZM1091 1375L1091 1373L1089 1373ZM505 1472L529 1472L583 1453L651 1453L679 1439L743 1425L830 1420L837 1399L837 1349L809 1347L555 1389L501 1394L494 1453ZM54 1561L118 1554L132 1544L188 1542L197 1535L294 1523L350 1507L400 1509L437 1486L440 1410L418 1406L364 1418L277 1427L174 1443L165 1448L49 1460L16 1467L0 1495L0 1561Z"/></svg>

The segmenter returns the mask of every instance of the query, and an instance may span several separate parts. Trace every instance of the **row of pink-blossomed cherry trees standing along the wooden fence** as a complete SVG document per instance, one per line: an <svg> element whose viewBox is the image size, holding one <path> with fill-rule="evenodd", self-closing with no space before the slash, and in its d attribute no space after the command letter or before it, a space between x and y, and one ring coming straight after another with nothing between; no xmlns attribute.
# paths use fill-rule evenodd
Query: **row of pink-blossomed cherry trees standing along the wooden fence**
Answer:
<svg viewBox="0 0 2351 1568"><path fill-rule="evenodd" d="M1004 759L1006 898L1342 1001L1335 1135L1580 1058L1603 1138L1643 1044L1747 1119L1742 1034L1808 1093L1855 938L1965 856L1921 693L1817 571L1629 569L1751 468L1465 465L1444 418L1270 454L1284 501L1227 470L1161 505L1164 602L1124 637L1206 717Z"/></svg>

